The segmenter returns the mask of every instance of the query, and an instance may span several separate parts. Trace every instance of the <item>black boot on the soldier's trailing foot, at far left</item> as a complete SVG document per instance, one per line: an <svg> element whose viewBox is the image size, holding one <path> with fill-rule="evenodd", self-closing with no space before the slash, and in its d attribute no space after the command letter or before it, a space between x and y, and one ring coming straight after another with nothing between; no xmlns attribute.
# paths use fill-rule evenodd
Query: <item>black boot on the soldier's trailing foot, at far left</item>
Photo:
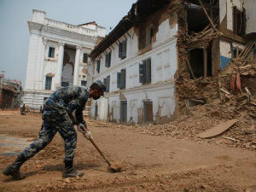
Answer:
<svg viewBox="0 0 256 192"><path fill-rule="evenodd" d="M22 166L25 161L26 159L22 155L19 155L15 162L3 170L3 175L11 176L14 180L25 178L26 176L24 174L20 174L20 166Z"/></svg>

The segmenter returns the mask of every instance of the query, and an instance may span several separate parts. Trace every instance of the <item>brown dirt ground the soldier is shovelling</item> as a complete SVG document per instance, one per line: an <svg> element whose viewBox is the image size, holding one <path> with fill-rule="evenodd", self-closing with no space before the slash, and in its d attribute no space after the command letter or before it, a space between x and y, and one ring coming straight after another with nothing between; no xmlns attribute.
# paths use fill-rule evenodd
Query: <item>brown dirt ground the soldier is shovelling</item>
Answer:
<svg viewBox="0 0 256 192"><path fill-rule="evenodd" d="M21 167L26 179L12 181L1 174L0 191L256 190L255 151L198 143L188 137L148 135L137 131L137 126L119 129L113 124L86 120L95 142L108 159L123 163L123 172L108 172L96 149L78 134L75 168L83 171L84 177L62 179L64 148L57 134L44 150ZM31 142L37 137L41 123L39 115L0 112L0 135L17 140L23 137ZM0 154L4 146L1 142ZM1 171L13 160L14 155L1 154Z"/></svg>

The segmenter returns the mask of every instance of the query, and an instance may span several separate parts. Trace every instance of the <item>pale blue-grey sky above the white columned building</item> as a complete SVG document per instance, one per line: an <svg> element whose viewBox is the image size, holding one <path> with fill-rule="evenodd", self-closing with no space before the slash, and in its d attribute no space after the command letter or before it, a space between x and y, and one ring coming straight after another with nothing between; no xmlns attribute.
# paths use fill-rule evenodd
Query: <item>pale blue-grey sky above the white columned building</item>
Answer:
<svg viewBox="0 0 256 192"><path fill-rule="evenodd" d="M136 0L0 0L0 73L6 79L26 80L29 44L27 20L32 9L46 11L46 17L79 25L95 20L108 29L127 15Z"/></svg>

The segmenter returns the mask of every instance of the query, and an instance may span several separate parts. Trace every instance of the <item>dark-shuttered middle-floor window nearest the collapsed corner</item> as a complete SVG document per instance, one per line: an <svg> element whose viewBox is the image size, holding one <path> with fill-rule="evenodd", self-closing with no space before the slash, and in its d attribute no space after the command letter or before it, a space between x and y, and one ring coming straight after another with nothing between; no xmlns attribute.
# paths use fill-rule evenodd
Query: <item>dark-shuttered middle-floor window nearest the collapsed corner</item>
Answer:
<svg viewBox="0 0 256 192"><path fill-rule="evenodd" d="M151 59L143 61L142 64L139 64L139 82L140 83L149 83L151 82Z"/></svg>

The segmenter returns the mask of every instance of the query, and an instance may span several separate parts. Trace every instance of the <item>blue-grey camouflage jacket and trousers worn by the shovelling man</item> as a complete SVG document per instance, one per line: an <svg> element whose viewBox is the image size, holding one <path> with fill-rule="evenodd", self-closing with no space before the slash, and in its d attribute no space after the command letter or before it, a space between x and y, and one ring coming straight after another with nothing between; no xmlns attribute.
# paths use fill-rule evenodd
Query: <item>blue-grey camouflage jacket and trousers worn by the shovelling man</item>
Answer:
<svg viewBox="0 0 256 192"><path fill-rule="evenodd" d="M44 121L38 138L25 148L20 156L28 160L45 148L58 131L65 143L64 160L73 160L77 143L77 133L73 125L82 123L86 127L83 119L83 110L88 98L89 92L83 87L66 87L56 90L44 102L42 116ZM75 117L72 114L74 110Z"/></svg>

